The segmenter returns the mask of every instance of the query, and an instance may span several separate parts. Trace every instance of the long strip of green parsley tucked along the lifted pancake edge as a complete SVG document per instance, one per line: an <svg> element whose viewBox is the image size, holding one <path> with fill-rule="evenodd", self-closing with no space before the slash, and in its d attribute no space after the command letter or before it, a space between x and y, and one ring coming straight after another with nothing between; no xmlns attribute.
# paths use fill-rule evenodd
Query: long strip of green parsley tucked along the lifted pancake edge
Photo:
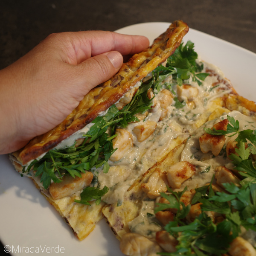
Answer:
<svg viewBox="0 0 256 256"><path fill-rule="evenodd" d="M23 173L29 172L33 166L35 176L41 177L41 183L47 189L51 182L59 183L64 175L81 177L81 172L85 170L102 168L107 173L110 166L109 158L115 151L112 140L117 127L125 128L130 122L138 122L135 116L137 113L144 113L151 109L152 99L147 96L148 89L153 88L158 93L163 87L172 90L172 85L166 82L166 78L172 75L174 81L181 85L183 80L192 76L193 81L201 84L208 74L200 73L203 64L198 64L197 53L194 51L194 44L188 41L185 45L180 44L171 57L167 60L166 67L160 65L152 72L152 78L143 83L132 100L121 111L112 105L105 116L98 116L92 121L93 126L85 135L84 142L61 150L50 150L40 160L34 160L27 168L23 168ZM201 81L200 81L201 80ZM175 108L183 108L185 102L179 102L174 98ZM96 176L95 176L96 180ZM96 186L96 184L94 184ZM85 190L88 192L88 190ZM81 200L82 201L82 200Z"/></svg>

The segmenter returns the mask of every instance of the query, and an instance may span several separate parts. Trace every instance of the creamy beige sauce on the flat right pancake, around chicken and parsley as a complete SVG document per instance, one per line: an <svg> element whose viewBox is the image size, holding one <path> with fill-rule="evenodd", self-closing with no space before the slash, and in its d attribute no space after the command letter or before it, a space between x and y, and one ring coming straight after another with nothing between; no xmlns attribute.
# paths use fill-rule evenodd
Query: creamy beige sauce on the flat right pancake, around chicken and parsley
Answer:
<svg viewBox="0 0 256 256"><path fill-rule="evenodd" d="M239 120L239 130L252 129L256 128L256 118L253 116L245 116L239 111L232 111L227 113L227 115L232 116L235 120ZM224 156L224 154L219 154L217 157L213 157L212 153L202 153L199 145L199 137L201 137L205 131L204 127L212 128L212 126L220 122L223 119L227 118L227 115L223 115L218 119L206 122L203 126L198 128L194 134L186 142L186 145L181 153L180 161L189 161L190 163L196 166L196 173L189 180L183 182L180 189L175 189L175 191L183 190L187 186L187 190L195 189L201 186L204 186L206 183L211 182L212 176L215 174L215 168L218 166L226 166L227 168L232 169L233 164L231 161ZM225 136L225 144L227 145L228 141L236 139L237 135L233 137ZM208 167L208 170L207 170ZM210 169L209 169L210 167ZM215 180L214 180L215 182ZM143 200L147 200L147 197L143 198ZM156 199L157 201L157 199ZM144 202L144 201L143 201ZM138 216L134 218L134 220L128 223L128 226L131 232L141 234L143 236L148 237L149 239L154 238L154 234L157 230L156 227L153 227L145 218L145 212L150 212L154 210L155 204L154 202L150 202L147 205L146 210L144 205L142 205L140 211L138 212ZM163 230L163 227L162 229ZM157 230L158 231L158 230ZM256 232L253 230L245 230L244 227L241 226L241 237L250 242L254 247L256 245Z"/></svg>

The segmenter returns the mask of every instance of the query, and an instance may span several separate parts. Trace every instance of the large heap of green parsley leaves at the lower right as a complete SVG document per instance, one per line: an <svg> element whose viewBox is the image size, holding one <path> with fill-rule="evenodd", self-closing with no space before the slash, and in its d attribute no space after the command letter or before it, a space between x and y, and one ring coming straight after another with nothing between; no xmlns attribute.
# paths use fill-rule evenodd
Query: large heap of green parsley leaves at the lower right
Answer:
<svg viewBox="0 0 256 256"><path fill-rule="evenodd" d="M256 169L250 158L254 149L245 147L247 140L253 143L253 148L255 147L256 134L252 130L239 131L239 121L230 116L228 120L230 123L227 131L205 130L213 135L238 134L236 138L238 155L231 154L229 157L236 166L235 169L244 177L240 182L241 186L223 183L225 191L215 193L212 189L213 176L209 185L195 189L191 204L201 203L202 213L191 223L187 223L185 218L190 205L183 210L184 204L180 200L186 188L182 192L173 192L172 189L168 189L169 195L162 193L161 195L169 201L169 204L157 204L155 212L168 208L177 209L174 221L169 222L165 230L177 239L178 244L175 253L159 254L186 256L194 253L196 256L221 256L227 253L230 242L239 236L241 226L246 230L256 231ZM207 215L207 211L222 215L223 221L214 223Z"/></svg>

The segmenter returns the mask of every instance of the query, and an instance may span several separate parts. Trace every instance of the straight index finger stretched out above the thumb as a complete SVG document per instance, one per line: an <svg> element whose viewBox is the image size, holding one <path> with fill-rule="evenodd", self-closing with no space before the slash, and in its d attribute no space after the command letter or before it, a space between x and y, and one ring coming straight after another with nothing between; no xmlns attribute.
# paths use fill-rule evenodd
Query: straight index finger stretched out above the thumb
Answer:
<svg viewBox="0 0 256 256"><path fill-rule="evenodd" d="M122 55L141 52L149 45L148 38L139 35L122 35L109 31L64 32L49 35L45 44L61 47L59 57L69 64L79 64L104 52L118 51Z"/></svg>

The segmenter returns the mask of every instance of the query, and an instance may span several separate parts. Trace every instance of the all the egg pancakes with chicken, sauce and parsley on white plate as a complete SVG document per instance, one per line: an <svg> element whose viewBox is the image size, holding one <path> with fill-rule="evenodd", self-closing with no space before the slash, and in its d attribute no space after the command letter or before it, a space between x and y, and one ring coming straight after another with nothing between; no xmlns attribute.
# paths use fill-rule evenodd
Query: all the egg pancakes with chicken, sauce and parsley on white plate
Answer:
<svg viewBox="0 0 256 256"><path fill-rule="evenodd" d="M104 215L126 255L256 255L256 104L187 31L172 23L10 155L80 240Z"/></svg>

